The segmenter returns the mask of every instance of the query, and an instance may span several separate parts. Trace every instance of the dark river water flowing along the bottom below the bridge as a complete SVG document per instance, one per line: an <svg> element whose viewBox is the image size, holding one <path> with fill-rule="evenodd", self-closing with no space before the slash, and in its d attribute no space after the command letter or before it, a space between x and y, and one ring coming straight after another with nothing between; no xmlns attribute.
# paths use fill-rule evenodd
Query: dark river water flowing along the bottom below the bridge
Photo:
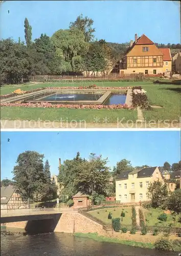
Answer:
<svg viewBox="0 0 181 256"><path fill-rule="evenodd" d="M7 229L7 231L12 229ZM13 229L19 231L19 229ZM22 229L20 229L22 232ZM46 233L34 236L1 236L1 256L122 256L178 255L127 245L97 242L66 233Z"/></svg>

